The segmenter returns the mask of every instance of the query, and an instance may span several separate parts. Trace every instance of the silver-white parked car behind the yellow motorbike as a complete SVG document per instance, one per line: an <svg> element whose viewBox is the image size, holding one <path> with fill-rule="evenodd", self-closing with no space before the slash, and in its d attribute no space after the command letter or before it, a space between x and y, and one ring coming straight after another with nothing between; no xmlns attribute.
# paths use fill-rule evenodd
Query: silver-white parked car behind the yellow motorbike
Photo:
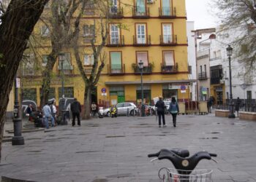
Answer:
<svg viewBox="0 0 256 182"><path fill-rule="evenodd" d="M129 112L129 116L133 116L133 114L137 114L138 108L134 103L118 103L116 104L118 115L127 115L127 109ZM105 108L103 111L105 116L110 116L110 108Z"/></svg>

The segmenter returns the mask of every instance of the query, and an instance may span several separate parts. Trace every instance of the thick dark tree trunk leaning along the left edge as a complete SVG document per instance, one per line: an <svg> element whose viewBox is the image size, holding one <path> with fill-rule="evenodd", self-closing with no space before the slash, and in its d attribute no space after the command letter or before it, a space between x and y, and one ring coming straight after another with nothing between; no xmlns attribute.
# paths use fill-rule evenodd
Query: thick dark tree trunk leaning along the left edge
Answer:
<svg viewBox="0 0 256 182"><path fill-rule="evenodd" d="M0 25L0 159L4 114L29 36L48 0L12 0Z"/></svg>

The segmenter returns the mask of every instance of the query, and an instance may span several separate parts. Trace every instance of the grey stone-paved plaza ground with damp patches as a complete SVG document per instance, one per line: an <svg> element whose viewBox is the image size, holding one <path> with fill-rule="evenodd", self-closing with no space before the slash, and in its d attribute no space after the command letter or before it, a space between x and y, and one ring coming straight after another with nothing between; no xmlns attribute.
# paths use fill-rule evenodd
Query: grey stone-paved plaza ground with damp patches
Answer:
<svg viewBox="0 0 256 182"><path fill-rule="evenodd" d="M25 145L4 142L0 176L26 181L159 181L167 160L150 162L159 149L206 150L217 163L200 161L197 168L213 169L213 181L256 181L256 122L208 115L178 116L173 127L159 128L156 116L83 120L77 125L23 133ZM7 123L11 127L12 123ZM7 133L6 133L7 135ZM10 135L10 134L9 134Z"/></svg>

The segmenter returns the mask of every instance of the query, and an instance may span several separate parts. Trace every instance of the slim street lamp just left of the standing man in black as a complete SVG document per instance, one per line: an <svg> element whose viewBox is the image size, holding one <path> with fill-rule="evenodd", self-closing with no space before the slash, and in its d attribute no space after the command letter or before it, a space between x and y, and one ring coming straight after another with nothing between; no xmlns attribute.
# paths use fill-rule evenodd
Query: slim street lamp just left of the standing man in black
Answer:
<svg viewBox="0 0 256 182"><path fill-rule="evenodd" d="M63 71L63 62L65 60L65 54L59 54L59 61L61 62L61 115L62 115L62 122L61 124L67 125L66 120L66 109L65 109L65 98L64 98L64 71Z"/></svg>

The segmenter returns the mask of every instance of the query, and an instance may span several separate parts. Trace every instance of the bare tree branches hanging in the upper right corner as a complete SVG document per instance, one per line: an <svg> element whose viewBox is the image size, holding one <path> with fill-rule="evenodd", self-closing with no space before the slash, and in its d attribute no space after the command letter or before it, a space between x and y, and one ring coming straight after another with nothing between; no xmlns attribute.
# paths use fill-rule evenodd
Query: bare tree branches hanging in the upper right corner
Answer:
<svg viewBox="0 0 256 182"><path fill-rule="evenodd" d="M221 20L219 34L233 36L236 58L253 68L256 58L256 9L254 0L214 0ZM230 38L228 38L230 39Z"/></svg>

